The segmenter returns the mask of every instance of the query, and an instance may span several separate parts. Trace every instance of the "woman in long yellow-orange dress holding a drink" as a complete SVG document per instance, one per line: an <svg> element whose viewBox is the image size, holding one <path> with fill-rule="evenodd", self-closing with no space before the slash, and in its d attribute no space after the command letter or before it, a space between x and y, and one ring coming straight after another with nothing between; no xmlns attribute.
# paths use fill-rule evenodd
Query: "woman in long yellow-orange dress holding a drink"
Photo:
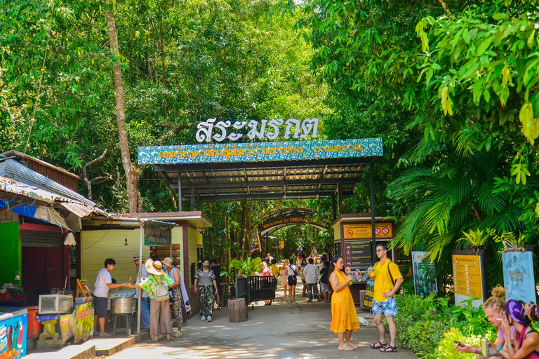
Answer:
<svg viewBox="0 0 539 359"><path fill-rule="evenodd" d="M352 332L359 329L356 307L348 285L352 280L350 268L342 269L345 262L340 255L335 255L331 259L329 268L329 281L333 287L331 297L331 331L337 333L339 338L338 350L353 351L358 346L350 342Z"/></svg>

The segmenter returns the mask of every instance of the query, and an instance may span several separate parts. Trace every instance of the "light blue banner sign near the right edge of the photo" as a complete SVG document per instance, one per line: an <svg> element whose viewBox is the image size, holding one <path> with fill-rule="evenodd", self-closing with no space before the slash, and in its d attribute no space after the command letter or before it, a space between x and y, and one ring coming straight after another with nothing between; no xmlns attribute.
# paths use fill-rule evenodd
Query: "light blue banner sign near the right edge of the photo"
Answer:
<svg viewBox="0 0 539 359"><path fill-rule="evenodd" d="M502 260L505 298L535 302L532 252L505 252Z"/></svg>

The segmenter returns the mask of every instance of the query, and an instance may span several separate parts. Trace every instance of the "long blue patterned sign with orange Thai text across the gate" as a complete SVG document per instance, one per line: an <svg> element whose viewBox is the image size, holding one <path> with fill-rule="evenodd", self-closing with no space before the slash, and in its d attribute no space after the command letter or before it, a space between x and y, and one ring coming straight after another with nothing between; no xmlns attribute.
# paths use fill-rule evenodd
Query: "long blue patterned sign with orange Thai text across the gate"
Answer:
<svg viewBox="0 0 539 359"><path fill-rule="evenodd" d="M139 165L382 156L381 138L138 147Z"/></svg>

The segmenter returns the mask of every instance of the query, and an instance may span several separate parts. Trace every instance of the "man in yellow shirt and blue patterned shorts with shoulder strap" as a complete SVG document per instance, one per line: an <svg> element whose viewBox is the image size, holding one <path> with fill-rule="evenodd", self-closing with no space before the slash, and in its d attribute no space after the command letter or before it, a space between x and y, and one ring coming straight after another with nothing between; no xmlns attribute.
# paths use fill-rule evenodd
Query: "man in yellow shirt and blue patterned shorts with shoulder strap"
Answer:
<svg viewBox="0 0 539 359"><path fill-rule="evenodd" d="M395 326L394 316L397 315L397 302L395 293L401 287L404 279L397 264L391 262L387 258L387 247L383 244L376 246L376 257L380 259L374 265L374 271L369 269L369 274L374 280L374 295L373 295L373 314L380 341L371 344L371 349L379 349L382 352L397 351L397 327ZM387 325L390 327L390 345L385 341L385 327L382 323L382 314L387 320Z"/></svg>

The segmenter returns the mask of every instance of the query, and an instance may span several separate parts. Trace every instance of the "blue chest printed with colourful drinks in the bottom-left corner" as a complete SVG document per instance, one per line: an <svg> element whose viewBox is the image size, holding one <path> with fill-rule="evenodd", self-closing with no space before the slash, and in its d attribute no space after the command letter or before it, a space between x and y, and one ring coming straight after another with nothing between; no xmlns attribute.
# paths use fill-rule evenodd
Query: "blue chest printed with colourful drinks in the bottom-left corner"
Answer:
<svg viewBox="0 0 539 359"><path fill-rule="evenodd" d="M0 306L0 358L26 355L28 313L26 309Z"/></svg>

